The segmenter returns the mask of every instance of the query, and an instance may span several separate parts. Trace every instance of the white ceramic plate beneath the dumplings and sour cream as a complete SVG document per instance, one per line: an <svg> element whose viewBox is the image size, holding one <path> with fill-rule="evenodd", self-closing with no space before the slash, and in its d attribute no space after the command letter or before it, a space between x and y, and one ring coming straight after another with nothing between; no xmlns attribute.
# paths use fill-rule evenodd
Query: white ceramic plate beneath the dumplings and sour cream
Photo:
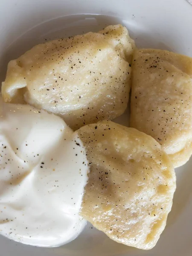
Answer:
<svg viewBox="0 0 192 256"><path fill-rule="evenodd" d="M35 44L122 23L138 47L192 57L192 6L186 0L0 0L0 82L10 59ZM122 116L126 125L128 116ZM0 236L0 256L192 256L192 159L176 169L177 190L154 249L118 244L87 224L75 241L46 249Z"/></svg>

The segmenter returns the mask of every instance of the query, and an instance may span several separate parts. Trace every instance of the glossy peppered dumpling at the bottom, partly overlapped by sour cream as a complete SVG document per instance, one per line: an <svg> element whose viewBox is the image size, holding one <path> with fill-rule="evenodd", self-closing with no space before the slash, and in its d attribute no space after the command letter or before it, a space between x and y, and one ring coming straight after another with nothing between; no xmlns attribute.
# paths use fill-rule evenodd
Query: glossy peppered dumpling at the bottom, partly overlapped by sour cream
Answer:
<svg viewBox="0 0 192 256"><path fill-rule="evenodd" d="M176 187L168 155L151 136L111 121L76 132L90 166L80 214L114 241L153 248Z"/></svg>

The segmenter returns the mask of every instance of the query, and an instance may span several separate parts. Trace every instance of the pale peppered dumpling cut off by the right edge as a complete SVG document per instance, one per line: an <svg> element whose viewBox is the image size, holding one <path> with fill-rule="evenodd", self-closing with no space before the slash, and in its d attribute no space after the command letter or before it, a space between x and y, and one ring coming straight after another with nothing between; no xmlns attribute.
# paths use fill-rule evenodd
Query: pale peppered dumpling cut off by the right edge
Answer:
<svg viewBox="0 0 192 256"><path fill-rule="evenodd" d="M192 154L192 58L157 49L133 57L131 127L157 140L175 167Z"/></svg>

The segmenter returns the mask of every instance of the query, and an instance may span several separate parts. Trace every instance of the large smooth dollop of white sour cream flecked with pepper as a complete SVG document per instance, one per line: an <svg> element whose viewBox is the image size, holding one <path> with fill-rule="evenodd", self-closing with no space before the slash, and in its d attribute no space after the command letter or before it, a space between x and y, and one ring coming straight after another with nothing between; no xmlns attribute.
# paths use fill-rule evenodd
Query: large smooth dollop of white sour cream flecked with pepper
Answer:
<svg viewBox="0 0 192 256"><path fill-rule="evenodd" d="M75 239L89 172L85 149L64 120L0 101L0 234L54 247Z"/></svg>

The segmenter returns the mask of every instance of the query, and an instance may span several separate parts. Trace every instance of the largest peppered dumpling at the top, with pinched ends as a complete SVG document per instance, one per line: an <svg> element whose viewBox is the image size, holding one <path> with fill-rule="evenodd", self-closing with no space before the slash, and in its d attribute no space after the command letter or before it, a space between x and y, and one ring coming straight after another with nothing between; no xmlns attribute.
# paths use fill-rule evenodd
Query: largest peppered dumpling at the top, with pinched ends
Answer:
<svg viewBox="0 0 192 256"><path fill-rule="evenodd" d="M127 107L133 49L122 25L38 44L9 62L3 99L55 113L73 129L113 119Z"/></svg>

